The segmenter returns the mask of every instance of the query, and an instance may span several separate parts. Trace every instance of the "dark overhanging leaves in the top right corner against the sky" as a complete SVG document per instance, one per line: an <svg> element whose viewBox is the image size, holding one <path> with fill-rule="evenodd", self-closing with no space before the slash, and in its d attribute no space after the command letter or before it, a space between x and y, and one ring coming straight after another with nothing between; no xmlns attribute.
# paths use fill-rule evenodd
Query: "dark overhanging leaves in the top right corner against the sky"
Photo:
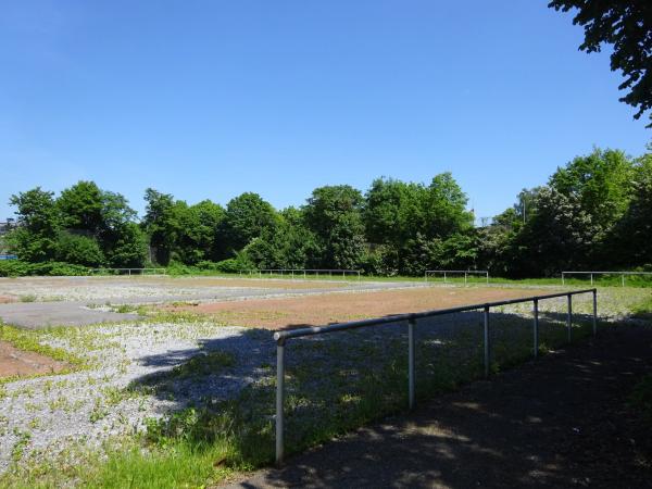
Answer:
<svg viewBox="0 0 652 489"><path fill-rule="evenodd" d="M577 9L573 24L585 29L582 51L600 52L602 43L613 46L611 68L623 72L625 82L618 88L629 92L620 101L638 109L635 118L652 109L652 1L552 0L548 7L562 12ZM647 127L652 128L652 122Z"/></svg>

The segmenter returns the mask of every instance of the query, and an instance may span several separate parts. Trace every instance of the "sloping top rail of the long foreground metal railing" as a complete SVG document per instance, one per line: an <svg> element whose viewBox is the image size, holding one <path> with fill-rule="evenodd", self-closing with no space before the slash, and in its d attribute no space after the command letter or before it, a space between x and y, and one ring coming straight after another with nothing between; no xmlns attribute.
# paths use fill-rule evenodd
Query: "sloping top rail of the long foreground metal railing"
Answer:
<svg viewBox="0 0 652 489"><path fill-rule="evenodd" d="M277 342L284 342L285 340L288 340L291 338L300 338L303 336L322 335L325 333L342 331L342 330L347 330L347 329L356 329L356 328L362 328L362 327L366 327L366 326L380 326L384 324L398 323L401 321L418 319L422 317L441 316L444 314L454 314L454 313L459 313L459 312L476 311L478 309L496 308L499 305L517 304L521 302L539 301L539 300L544 300L544 299L555 299L559 297L568 297L568 296L576 296L579 293L589 293L589 292L597 292L597 291L598 291L598 289L594 289L594 288L593 289L582 289L582 290L572 290L572 291L567 291L567 292L548 293L544 296L531 296L531 297L524 297L524 298L518 298L518 299L506 299L504 301L497 301L497 302L485 302L485 303L480 303L480 304L461 305L459 308L436 309L436 310L431 310L431 311L423 311L423 312L417 312L417 313L397 314L393 316L376 317L373 319L352 321L349 323L339 323L339 324L333 324L333 325L328 325L328 326L313 326L313 327L308 327L308 328L291 329L288 331L276 331L274 334L274 339Z"/></svg>

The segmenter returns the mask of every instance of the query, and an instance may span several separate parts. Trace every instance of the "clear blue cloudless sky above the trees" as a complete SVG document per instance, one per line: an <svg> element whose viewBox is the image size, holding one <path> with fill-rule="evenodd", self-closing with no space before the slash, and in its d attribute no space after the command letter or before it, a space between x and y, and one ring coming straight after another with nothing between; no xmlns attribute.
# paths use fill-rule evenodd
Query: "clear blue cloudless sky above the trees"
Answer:
<svg viewBox="0 0 652 489"><path fill-rule="evenodd" d="M451 171L478 216L594 145L644 152L547 0L0 0L0 220L79 179L189 203Z"/></svg>

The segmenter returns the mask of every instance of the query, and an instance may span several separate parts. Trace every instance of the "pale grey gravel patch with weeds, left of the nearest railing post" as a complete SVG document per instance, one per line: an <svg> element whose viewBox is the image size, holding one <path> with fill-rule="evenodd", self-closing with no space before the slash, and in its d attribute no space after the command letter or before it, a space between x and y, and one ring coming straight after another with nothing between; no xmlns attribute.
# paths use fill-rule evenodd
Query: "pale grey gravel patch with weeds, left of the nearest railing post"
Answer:
<svg viewBox="0 0 652 489"><path fill-rule="evenodd" d="M226 398L256 375L271 342L252 338L243 328L211 324L124 324L93 328L82 341L97 344L86 355L93 368L68 375L14 381L0 391L0 472L12 460L14 447L28 437L27 451L55 453L64 440L98 447L102 439L138 431L143 419L183 408L201 388L174 400L125 391L130 383L170 371L200 351L220 346L234 354L235 365L213 378L211 394ZM49 344L84 354L73 341L53 338ZM258 354L252 354L258 353Z"/></svg>

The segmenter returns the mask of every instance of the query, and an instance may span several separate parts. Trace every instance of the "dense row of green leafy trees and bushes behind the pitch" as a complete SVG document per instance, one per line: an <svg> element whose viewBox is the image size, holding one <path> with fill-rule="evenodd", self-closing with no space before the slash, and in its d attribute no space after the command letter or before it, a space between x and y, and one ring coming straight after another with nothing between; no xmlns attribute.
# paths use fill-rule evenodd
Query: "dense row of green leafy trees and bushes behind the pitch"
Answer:
<svg viewBox="0 0 652 489"><path fill-rule="evenodd" d="M303 205L280 211L253 192L222 206L148 188L145 201L138 218L122 195L92 181L59 197L39 187L20 192L10 201L20 225L4 246L29 263L221 272L481 268L517 278L652 264L652 153L594 149L481 227L450 173L427 185L377 178L364 193L319 187Z"/></svg>

